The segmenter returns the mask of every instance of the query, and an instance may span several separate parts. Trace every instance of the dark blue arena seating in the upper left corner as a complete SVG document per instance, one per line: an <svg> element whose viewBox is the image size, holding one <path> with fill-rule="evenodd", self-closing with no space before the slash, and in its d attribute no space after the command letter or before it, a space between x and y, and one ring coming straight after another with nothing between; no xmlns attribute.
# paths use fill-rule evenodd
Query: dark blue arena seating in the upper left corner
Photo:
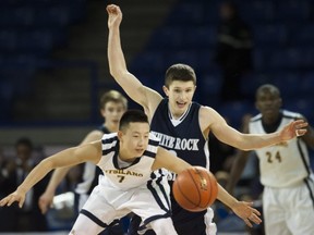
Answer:
<svg viewBox="0 0 314 235"><path fill-rule="evenodd" d="M2 0L0 9L0 121L15 98L32 91L36 70L67 44L68 27L84 17L85 0Z"/></svg>

